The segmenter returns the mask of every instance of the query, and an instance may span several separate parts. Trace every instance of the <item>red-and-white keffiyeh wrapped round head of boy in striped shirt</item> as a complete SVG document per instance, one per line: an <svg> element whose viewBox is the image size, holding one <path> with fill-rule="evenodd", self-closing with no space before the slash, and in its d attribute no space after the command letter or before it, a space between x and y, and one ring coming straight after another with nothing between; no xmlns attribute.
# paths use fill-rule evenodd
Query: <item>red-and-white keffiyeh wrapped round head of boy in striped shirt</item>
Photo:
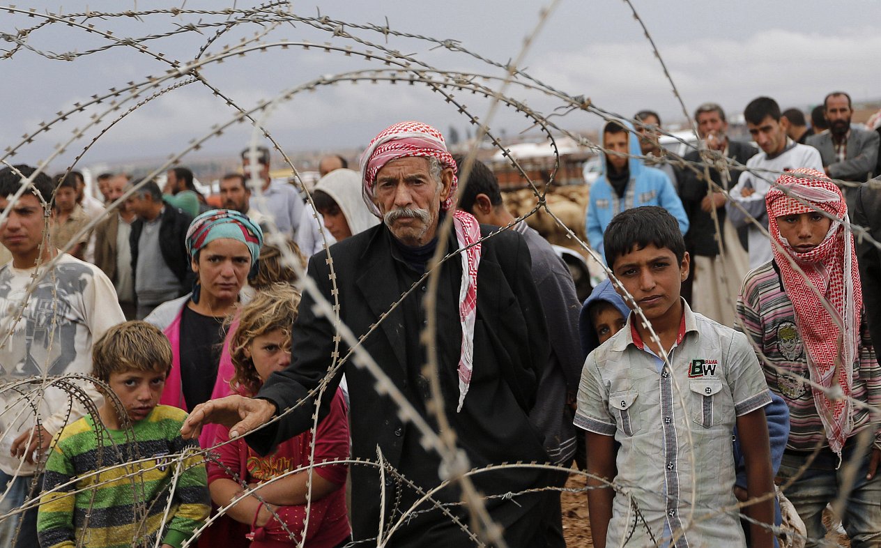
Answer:
<svg viewBox="0 0 881 548"><path fill-rule="evenodd" d="M854 236L849 230L848 206L833 181L807 168L782 174L774 189L768 191L765 203L768 233L782 248L772 245L774 259L796 311L811 380L825 389L834 391L836 385L841 389L839 397L833 398L822 389L812 389L829 448L840 455L854 426L850 396L854 361L859 359L862 310L862 286ZM833 218L829 232L816 248L798 253L781 236L777 218L817 210ZM793 268L790 259L804 274Z"/></svg>

